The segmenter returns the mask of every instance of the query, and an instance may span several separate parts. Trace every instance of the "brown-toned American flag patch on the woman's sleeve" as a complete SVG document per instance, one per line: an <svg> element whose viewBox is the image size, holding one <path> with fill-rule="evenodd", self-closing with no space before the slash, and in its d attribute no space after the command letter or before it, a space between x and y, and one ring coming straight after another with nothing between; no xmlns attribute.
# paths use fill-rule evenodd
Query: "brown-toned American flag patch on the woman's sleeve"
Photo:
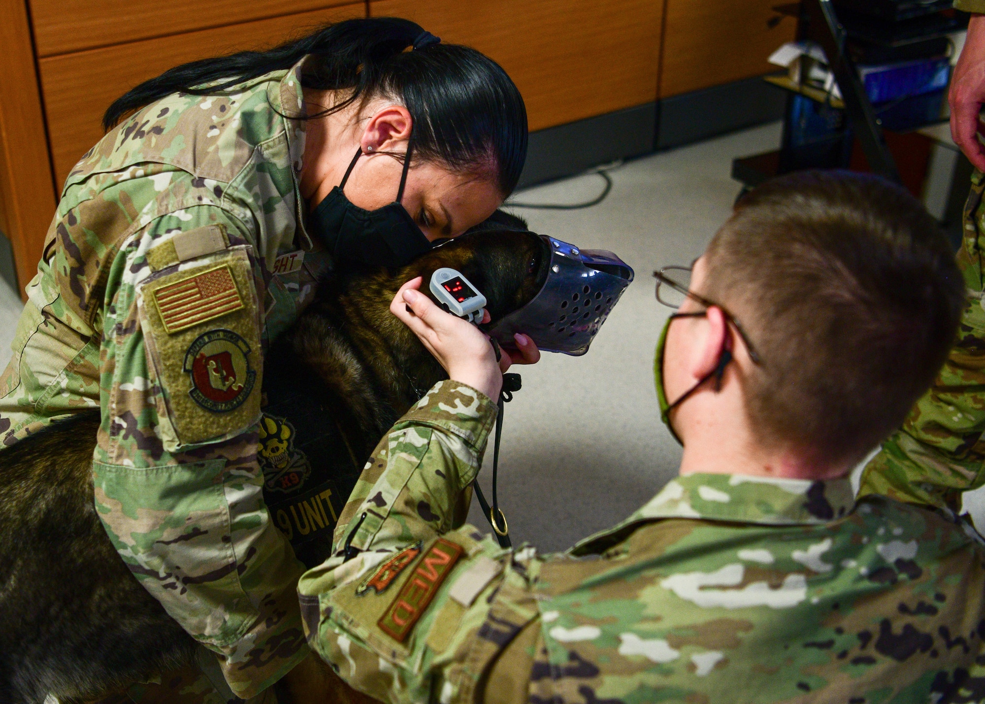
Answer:
<svg viewBox="0 0 985 704"><path fill-rule="evenodd" d="M229 264L161 287L154 303L168 334L244 308Z"/></svg>

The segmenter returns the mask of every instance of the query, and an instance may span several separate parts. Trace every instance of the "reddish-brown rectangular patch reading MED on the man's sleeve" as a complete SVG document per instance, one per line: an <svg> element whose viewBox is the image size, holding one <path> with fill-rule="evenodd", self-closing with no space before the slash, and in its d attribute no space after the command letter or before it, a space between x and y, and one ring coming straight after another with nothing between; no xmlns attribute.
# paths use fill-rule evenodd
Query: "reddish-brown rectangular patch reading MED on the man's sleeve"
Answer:
<svg viewBox="0 0 985 704"><path fill-rule="evenodd" d="M380 630L398 643L407 640L462 551L461 545L438 538L377 622Z"/></svg>

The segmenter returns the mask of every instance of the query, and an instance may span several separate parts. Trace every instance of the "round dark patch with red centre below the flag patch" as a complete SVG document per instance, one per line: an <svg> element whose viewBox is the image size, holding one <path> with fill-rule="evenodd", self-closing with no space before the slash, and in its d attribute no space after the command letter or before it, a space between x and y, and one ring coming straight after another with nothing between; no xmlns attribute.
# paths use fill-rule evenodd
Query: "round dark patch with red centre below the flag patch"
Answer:
<svg viewBox="0 0 985 704"><path fill-rule="evenodd" d="M246 340L232 330L199 335L185 352L183 370L191 376L188 394L213 413L228 413L246 400L256 372L250 369Z"/></svg>

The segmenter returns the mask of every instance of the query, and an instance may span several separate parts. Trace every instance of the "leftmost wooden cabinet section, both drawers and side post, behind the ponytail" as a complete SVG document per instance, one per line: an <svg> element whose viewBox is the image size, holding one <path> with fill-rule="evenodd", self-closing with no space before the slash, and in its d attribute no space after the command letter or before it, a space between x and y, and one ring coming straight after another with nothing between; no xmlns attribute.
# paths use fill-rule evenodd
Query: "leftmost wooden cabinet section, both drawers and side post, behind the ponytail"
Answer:
<svg viewBox="0 0 985 704"><path fill-rule="evenodd" d="M177 64L365 15L364 0L0 0L0 229L22 295L110 103Z"/></svg>

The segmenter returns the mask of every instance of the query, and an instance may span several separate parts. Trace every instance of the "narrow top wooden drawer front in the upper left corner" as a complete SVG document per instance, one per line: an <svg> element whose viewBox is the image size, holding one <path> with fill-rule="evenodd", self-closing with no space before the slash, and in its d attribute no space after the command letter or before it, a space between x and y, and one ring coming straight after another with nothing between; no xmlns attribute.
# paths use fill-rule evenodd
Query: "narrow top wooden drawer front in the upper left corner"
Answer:
<svg viewBox="0 0 985 704"><path fill-rule="evenodd" d="M346 5L352 0L31 0L38 56Z"/></svg>

